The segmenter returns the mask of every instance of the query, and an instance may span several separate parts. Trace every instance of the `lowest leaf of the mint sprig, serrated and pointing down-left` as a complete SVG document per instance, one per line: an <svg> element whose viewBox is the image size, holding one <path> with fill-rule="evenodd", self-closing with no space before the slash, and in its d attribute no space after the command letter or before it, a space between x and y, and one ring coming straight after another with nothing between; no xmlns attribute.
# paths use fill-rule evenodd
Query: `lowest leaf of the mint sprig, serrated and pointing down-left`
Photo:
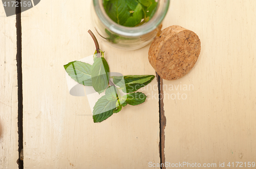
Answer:
<svg viewBox="0 0 256 169"><path fill-rule="evenodd" d="M116 101L109 101L105 95L99 98L93 107L94 123L102 122L112 116L113 110L116 108Z"/></svg>

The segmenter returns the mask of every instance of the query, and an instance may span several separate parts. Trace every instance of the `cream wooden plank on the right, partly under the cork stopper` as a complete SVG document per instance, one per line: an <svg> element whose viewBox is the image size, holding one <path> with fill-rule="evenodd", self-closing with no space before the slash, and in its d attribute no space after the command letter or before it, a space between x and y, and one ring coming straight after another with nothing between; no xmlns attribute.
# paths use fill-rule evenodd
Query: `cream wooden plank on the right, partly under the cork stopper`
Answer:
<svg viewBox="0 0 256 169"><path fill-rule="evenodd" d="M165 161L255 162L256 1L173 0L167 18L163 28L199 36L201 54L187 75L163 81Z"/></svg>

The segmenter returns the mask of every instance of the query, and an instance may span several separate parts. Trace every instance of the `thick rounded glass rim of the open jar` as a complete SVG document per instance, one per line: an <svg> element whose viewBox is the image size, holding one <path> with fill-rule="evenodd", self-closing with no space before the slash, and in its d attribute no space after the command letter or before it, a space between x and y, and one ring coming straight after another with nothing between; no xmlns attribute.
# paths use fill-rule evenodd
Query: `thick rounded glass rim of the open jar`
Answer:
<svg viewBox="0 0 256 169"><path fill-rule="evenodd" d="M93 0L93 6L100 21L108 27L110 31L126 37L135 37L150 33L158 27L168 11L169 1L170 0L158 0L158 9L155 15L148 22L136 27L126 27L114 22L106 14L102 0Z"/></svg>

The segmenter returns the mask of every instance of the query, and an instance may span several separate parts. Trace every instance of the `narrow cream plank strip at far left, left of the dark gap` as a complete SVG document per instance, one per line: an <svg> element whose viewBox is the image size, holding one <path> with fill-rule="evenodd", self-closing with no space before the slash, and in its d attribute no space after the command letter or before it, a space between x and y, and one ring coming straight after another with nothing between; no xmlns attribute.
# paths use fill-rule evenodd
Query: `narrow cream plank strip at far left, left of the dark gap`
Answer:
<svg viewBox="0 0 256 169"><path fill-rule="evenodd" d="M16 18L0 5L0 168L18 168Z"/></svg>

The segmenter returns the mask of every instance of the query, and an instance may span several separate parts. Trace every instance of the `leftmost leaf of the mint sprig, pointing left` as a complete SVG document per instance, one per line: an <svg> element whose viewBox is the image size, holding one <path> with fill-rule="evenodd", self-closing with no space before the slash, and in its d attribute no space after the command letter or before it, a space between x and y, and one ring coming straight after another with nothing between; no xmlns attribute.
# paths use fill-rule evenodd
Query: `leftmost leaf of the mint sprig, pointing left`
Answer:
<svg viewBox="0 0 256 169"><path fill-rule="evenodd" d="M92 86L92 65L80 61L74 61L64 65L64 68L69 76L81 85Z"/></svg>

